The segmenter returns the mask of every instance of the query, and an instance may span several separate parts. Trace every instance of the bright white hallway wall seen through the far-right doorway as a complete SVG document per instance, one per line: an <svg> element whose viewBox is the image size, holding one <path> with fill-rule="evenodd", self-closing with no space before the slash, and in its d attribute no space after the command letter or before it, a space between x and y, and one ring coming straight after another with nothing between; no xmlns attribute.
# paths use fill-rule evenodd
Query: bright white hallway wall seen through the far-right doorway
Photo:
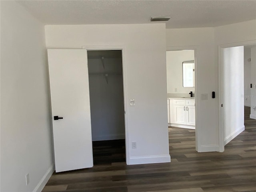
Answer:
<svg viewBox="0 0 256 192"><path fill-rule="evenodd" d="M223 49L224 145L244 130L244 46Z"/></svg>

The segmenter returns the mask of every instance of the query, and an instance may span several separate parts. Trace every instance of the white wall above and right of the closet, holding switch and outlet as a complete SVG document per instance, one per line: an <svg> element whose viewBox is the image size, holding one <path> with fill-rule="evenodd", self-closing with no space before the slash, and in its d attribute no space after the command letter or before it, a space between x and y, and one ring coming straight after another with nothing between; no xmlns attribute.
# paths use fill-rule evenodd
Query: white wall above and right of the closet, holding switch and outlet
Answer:
<svg viewBox="0 0 256 192"><path fill-rule="evenodd" d="M49 25L45 31L47 48L125 47L127 163L169 162L165 24Z"/></svg>

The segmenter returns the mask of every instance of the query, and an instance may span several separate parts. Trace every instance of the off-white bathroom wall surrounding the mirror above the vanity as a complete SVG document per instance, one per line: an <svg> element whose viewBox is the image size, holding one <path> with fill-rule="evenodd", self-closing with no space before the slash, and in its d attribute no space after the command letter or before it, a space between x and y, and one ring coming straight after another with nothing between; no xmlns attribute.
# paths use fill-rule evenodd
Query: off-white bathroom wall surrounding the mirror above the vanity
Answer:
<svg viewBox="0 0 256 192"><path fill-rule="evenodd" d="M190 91L194 93L194 87L183 87L182 79L182 62L192 60L194 60L194 50L166 52L167 93L187 95Z"/></svg>

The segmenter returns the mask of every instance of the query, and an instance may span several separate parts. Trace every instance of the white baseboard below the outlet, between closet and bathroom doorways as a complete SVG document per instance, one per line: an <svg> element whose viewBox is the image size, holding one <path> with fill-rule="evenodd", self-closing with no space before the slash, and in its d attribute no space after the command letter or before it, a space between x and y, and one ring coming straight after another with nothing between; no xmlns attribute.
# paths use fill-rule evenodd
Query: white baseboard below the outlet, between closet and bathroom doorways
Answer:
<svg viewBox="0 0 256 192"><path fill-rule="evenodd" d="M159 156L131 157L129 159L129 165L150 164L150 163L170 163L170 162L171 162L170 154L159 155Z"/></svg>

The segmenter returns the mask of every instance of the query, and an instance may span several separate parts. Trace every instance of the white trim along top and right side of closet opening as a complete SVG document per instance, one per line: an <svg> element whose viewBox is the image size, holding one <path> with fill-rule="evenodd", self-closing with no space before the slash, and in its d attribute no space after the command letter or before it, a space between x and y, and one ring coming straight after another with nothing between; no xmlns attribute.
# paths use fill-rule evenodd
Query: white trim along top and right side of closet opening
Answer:
<svg viewBox="0 0 256 192"><path fill-rule="evenodd" d="M128 126L127 126L127 102L126 102L126 68L125 68L125 56L126 56L126 46L124 45L92 45L92 46L82 46L82 49L87 51L92 50L121 50L122 51L122 75L123 75L123 92L124 92L124 133L125 133L125 155L126 155L126 164L129 163L130 153L128 145Z"/></svg>

